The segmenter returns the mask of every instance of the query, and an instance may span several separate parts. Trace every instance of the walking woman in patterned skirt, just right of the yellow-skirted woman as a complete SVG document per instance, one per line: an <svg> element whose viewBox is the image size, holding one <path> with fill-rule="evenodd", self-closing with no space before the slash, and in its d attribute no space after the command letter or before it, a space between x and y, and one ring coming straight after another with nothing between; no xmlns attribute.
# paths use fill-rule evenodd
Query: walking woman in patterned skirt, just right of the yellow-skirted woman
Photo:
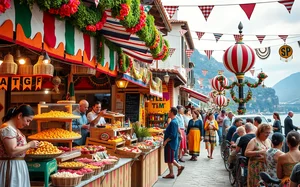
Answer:
<svg viewBox="0 0 300 187"><path fill-rule="evenodd" d="M204 125L205 130L205 148L207 149L207 158L213 159L212 155L216 145L216 131L219 129L218 122L214 119L212 112L208 113L208 118Z"/></svg>

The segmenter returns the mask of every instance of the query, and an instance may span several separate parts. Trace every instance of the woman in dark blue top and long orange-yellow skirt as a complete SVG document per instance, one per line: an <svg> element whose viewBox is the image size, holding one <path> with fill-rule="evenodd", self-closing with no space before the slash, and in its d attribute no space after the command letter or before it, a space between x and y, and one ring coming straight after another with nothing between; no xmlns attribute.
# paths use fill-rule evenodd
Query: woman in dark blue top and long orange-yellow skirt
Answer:
<svg viewBox="0 0 300 187"><path fill-rule="evenodd" d="M197 111L192 112L192 117L188 123L187 136L189 142L189 154L192 156L190 160L197 161L197 156L200 153L200 142L203 139L203 123L199 118Z"/></svg>

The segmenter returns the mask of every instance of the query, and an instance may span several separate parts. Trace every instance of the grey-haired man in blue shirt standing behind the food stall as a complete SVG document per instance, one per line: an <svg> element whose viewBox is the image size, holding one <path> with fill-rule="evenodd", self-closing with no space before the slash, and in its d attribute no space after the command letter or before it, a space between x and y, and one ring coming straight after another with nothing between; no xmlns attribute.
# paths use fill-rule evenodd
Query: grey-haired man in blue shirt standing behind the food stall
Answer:
<svg viewBox="0 0 300 187"><path fill-rule="evenodd" d="M81 138L74 140L74 145L84 145L86 138L89 135L90 125L86 117L86 111L89 108L89 103L86 100L79 102L79 108L73 111L74 115L80 116L79 119L73 120L72 129L74 132L81 134Z"/></svg>

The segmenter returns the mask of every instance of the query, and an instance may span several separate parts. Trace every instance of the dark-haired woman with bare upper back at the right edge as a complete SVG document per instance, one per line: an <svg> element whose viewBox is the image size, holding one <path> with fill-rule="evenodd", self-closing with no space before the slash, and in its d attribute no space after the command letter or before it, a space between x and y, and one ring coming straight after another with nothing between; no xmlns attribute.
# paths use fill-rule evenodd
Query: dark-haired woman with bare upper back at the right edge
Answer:
<svg viewBox="0 0 300 187"><path fill-rule="evenodd" d="M281 179L281 186L289 186L290 176L294 166L300 162L300 134L297 131L288 133L287 145L289 152L279 156L277 163L277 177Z"/></svg>

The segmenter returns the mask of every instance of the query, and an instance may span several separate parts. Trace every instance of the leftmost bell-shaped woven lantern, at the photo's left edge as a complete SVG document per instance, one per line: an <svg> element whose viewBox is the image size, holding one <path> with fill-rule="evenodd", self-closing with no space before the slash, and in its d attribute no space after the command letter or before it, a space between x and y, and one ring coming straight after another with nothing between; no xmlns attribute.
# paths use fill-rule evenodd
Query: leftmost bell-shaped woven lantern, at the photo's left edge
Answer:
<svg viewBox="0 0 300 187"><path fill-rule="evenodd" d="M15 75L17 74L18 65L14 62L14 57L8 53L5 55L3 63L0 66L1 75Z"/></svg>

